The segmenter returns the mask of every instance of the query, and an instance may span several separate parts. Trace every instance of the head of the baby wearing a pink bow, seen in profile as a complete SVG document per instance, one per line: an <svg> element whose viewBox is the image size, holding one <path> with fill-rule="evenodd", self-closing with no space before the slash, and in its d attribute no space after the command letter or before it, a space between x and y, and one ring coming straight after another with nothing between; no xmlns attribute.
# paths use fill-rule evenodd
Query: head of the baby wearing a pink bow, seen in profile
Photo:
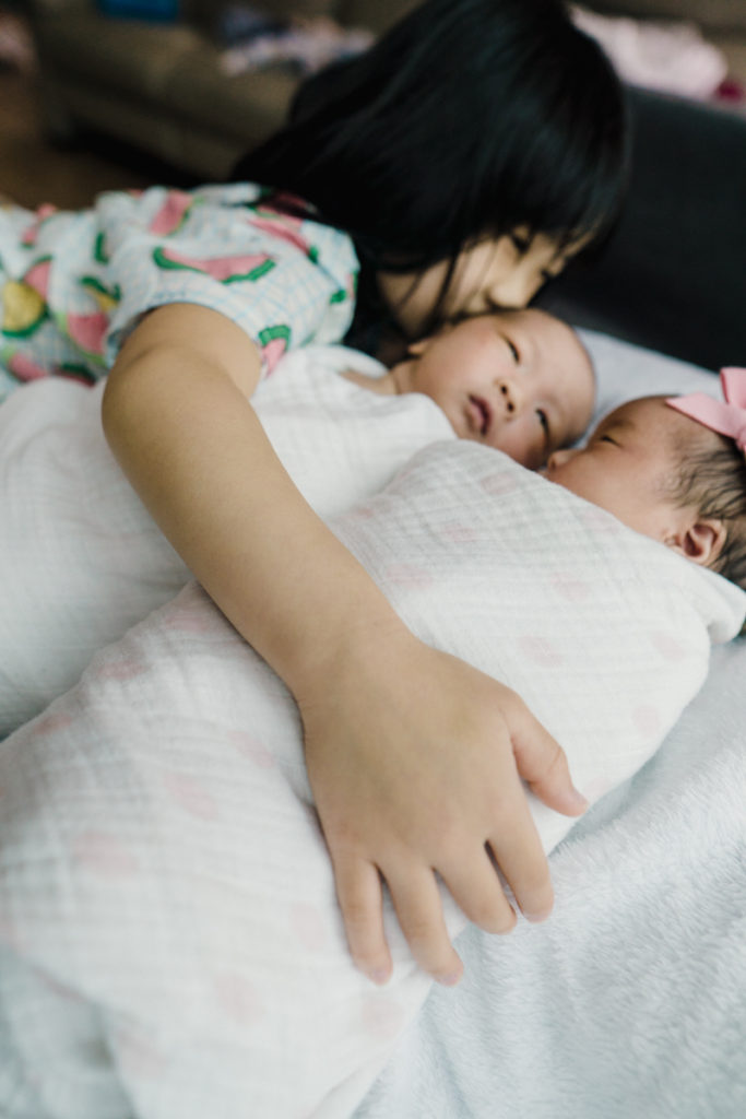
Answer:
<svg viewBox="0 0 746 1119"><path fill-rule="evenodd" d="M746 590L746 369L725 403L695 393L631 401L545 477Z"/></svg>

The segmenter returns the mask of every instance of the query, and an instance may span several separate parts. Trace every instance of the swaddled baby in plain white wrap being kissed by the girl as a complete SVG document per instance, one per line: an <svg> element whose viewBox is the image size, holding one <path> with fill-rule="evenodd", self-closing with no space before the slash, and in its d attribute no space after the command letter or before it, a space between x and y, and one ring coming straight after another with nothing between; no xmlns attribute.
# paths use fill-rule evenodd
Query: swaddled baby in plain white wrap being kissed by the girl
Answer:
<svg viewBox="0 0 746 1119"><path fill-rule="evenodd" d="M0 407L0 737L190 579L106 444L102 393L55 377ZM577 335L529 310L464 320L389 372L342 347L291 351L254 403L327 518L434 440L471 440L539 467L580 436L593 398Z"/></svg>

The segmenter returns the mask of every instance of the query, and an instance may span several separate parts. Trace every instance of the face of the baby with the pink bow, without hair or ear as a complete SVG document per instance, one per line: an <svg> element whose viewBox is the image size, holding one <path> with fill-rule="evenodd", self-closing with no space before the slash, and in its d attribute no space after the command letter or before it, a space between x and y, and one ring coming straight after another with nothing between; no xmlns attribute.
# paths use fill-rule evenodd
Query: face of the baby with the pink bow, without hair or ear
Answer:
<svg viewBox="0 0 746 1119"><path fill-rule="evenodd" d="M598 424L580 450L557 451L545 476L645 536L668 543L674 506L673 448L692 421L662 396L631 401Z"/></svg>

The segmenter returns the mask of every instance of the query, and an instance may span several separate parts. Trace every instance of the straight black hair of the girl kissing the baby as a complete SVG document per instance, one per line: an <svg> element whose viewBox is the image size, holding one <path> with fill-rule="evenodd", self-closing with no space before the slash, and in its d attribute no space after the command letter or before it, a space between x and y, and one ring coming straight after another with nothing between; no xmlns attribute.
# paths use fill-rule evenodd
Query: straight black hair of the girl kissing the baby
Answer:
<svg viewBox="0 0 746 1119"><path fill-rule="evenodd" d="M625 101L561 0L426 0L306 82L234 178L347 232L372 310L371 274L440 261L451 274L484 236L526 226L559 248L603 236L626 179Z"/></svg>

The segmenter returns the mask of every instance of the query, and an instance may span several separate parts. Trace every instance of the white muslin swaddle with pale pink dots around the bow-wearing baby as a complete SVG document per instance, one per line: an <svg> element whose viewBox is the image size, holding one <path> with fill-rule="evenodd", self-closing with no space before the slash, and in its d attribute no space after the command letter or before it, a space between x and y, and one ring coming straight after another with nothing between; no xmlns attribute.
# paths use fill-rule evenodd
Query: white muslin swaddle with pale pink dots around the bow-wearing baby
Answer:
<svg viewBox="0 0 746 1119"><path fill-rule="evenodd" d="M333 527L416 633L523 696L591 799L744 617L725 580L473 443ZM3 743L0 788L3 1116L349 1116L428 981L390 910L393 981L355 971L294 703L195 584ZM573 821L532 809L549 849Z"/></svg>

